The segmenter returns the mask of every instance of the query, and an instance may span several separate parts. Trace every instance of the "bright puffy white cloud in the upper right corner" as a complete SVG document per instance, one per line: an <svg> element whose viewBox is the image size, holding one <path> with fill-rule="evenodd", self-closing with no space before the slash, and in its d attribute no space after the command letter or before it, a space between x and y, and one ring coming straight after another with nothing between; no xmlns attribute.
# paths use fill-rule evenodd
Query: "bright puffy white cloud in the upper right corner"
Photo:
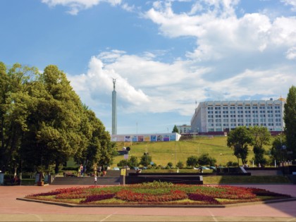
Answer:
<svg viewBox="0 0 296 222"><path fill-rule="evenodd" d="M166 37L196 37L197 47L187 56L199 62L233 54L260 54L274 48L284 54L296 46L296 17L271 20L261 13L246 13L238 18L237 4L238 1L204 0L193 4L190 13L175 13L171 4L162 4L149 9L145 16L159 25Z"/></svg>

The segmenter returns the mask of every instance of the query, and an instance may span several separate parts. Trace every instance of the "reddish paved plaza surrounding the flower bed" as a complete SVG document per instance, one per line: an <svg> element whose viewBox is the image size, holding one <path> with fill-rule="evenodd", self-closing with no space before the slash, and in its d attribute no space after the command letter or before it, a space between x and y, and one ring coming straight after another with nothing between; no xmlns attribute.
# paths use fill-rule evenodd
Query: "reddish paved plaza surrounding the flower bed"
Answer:
<svg viewBox="0 0 296 222"><path fill-rule="evenodd" d="M259 187L296 197L296 185L238 185ZM296 221L296 201L214 208L70 208L17 200L63 186L0 187L0 221Z"/></svg>

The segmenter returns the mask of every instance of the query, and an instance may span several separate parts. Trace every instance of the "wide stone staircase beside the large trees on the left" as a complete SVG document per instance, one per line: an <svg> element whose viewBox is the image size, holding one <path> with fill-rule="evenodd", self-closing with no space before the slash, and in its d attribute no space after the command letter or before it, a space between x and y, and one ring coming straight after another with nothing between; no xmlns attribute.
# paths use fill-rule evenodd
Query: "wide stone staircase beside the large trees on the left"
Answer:
<svg viewBox="0 0 296 222"><path fill-rule="evenodd" d="M97 177L97 185L119 185L120 171L107 171L106 176ZM50 185L94 185L93 176L56 177Z"/></svg>

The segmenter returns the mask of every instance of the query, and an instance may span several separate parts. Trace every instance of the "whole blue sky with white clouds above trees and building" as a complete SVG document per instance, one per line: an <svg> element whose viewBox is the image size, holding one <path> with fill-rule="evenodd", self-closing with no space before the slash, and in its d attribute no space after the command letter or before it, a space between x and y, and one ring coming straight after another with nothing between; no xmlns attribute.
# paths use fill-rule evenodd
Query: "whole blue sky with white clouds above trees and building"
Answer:
<svg viewBox="0 0 296 222"><path fill-rule="evenodd" d="M111 132L171 132L195 101L296 85L296 0L1 0L0 61L63 70Z"/></svg>

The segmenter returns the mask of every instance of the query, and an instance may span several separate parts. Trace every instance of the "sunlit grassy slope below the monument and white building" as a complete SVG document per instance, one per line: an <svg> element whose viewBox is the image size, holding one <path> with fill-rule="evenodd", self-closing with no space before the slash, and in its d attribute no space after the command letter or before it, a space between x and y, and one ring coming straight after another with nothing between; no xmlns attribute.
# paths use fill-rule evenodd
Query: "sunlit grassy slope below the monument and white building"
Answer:
<svg viewBox="0 0 296 222"><path fill-rule="evenodd" d="M130 147L130 156L137 156L139 161L144 152L149 152L152 161L161 166L166 166L168 162L175 166L178 161L186 164L188 156L199 156L205 153L214 157L218 165L226 165L228 161L237 162L238 159L233 156L233 150L226 144L227 137L196 137L192 140L178 142L118 142L116 147L118 151L123 147ZM249 147L248 160L251 160L253 156L252 147ZM113 166L116 166L121 159L123 156L116 156Z"/></svg>

